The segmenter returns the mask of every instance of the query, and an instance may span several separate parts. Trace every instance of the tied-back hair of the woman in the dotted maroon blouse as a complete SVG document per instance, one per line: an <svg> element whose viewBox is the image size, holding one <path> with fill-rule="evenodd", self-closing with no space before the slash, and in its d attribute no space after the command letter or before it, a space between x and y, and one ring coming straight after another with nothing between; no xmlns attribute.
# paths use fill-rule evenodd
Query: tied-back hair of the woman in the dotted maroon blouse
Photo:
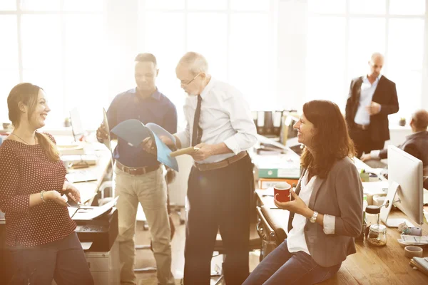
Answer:
<svg viewBox="0 0 428 285"><path fill-rule="evenodd" d="M17 128L19 123L21 123L21 110L19 110L19 103L21 102L28 106L28 118L30 120L31 115L33 115L34 110L36 109L37 98L39 97L40 90L43 89L31 83L19 83L12 88L7 98L7 107L9 109L9 120L11 120L14 128ZM38 132L36 132L36 138L39 141L39 145L41 145L43 150L46 152L46 155L49 157L49 160L58 161L60 159L54 138L49 138L48 135Z"/></svg>

